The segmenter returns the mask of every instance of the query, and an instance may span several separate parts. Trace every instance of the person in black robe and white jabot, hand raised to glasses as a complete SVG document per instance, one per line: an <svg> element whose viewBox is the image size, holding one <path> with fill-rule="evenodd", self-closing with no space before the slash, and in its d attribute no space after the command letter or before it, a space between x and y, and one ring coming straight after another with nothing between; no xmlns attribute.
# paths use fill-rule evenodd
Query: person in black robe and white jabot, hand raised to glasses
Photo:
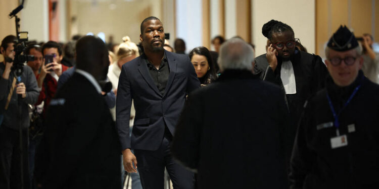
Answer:
<svg viewBox="0 0 379 189"><path fill-rule="evenodd" d="M286 94L291 118L286 139L289 162L304 102L323 88L327 70L319 56L295 47L295 33L289 25L271 20L263 25L262 33L270 45L266 54L255 58L254 71Z"/></svg>

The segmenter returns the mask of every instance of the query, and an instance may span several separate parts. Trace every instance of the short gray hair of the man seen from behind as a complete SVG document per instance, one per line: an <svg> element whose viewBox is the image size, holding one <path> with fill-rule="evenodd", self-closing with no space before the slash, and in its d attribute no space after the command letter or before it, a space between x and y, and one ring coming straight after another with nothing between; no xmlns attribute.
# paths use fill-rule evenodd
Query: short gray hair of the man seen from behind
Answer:
<svg viewBox="0 0 379 189"><path fill-rule="evenodd" d="M226 69L253 70L254 50L244 40L231 38L220 48L218 65L221 71Z"/></svg>

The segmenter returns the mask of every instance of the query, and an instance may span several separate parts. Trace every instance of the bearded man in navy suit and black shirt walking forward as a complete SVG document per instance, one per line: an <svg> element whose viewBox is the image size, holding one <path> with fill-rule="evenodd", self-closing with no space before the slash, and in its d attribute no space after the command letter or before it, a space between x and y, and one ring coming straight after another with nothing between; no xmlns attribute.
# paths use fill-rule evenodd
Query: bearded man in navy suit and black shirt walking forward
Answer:
<svg viewBox="0 0 379 189"><path fill-rule="evenodd" d="M140 30L144 54L122 66L117 90L116 126L125 170L136 172L138 167L145 189L163 188L165 167L174 188L194 188L194 174L173 160L170 143L186 95L200 88L200 82L187 55L163 49L165 36L158 18L146 18ZM132 99L135 119L130 138Z"/></svg>

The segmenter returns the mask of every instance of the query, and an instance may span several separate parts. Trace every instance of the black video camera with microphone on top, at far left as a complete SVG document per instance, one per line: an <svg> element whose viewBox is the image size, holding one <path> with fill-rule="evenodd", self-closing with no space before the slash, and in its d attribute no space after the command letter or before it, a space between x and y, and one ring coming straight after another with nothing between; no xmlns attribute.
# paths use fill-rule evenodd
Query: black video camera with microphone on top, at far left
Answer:
<svg viewBox="0 0 379 189"><path fill-rule="evenodd" d="M27 55L26 47L28 44L28 32L20 32L20 18L16 16L18 12L20 12L23 9L23 5L20 5L15 10L13 10L9 14L9 18L15 17L16 22L16 36L17 39L15 40L15 58L13 60L13 66L12 71L15 71L16 76L21 76L22 72L24 71L24 63L27 61L34 60L33 55ZM12 62L12 59L6 59L8 62Z"/></svg>

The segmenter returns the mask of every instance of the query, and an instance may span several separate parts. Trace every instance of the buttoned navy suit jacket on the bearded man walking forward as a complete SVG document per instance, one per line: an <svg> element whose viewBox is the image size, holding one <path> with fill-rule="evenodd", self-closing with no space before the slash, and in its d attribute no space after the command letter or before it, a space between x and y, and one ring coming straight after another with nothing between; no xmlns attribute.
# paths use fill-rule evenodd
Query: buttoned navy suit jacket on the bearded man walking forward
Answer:
<svg viewBox="0 0 379 189"><path fill-rule="evenodd" d="M122 66L116 99L116 126L121 148L157 150L164 137L165 125L174 133L186 95L200 88L200 82L188 55L165 51L170 68L164 95L154 84L146 56ZM131 139L129 119L134 100L135 119Z"/></svg>

